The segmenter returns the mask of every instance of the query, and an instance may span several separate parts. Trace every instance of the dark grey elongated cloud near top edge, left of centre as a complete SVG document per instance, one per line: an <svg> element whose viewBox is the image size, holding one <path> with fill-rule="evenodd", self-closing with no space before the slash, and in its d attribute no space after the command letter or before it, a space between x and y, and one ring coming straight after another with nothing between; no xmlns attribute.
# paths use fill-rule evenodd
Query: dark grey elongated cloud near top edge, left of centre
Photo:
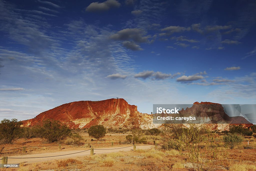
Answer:
<svg viewBox="0 0 256 171"><path fill-rule="evenodd" d="M88 7L86 7L86 11L88 12L102 12L108 11L110 8L118 8L121 4L116 0L107 0L102 3L93 2Z"/></svg>

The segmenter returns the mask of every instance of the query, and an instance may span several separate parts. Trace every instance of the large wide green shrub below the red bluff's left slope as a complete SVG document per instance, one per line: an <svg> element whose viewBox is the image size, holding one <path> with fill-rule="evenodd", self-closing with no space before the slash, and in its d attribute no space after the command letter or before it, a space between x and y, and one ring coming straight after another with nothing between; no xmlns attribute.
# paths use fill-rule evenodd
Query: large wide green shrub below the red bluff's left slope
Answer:
<svg viewBox="0 0 256 171"><path fill-rule="evenodd" d="M61 125L56 120L46 120L39 129L41 138L46 139L49 143L66 139L71 132L67 126Z"/></svg>

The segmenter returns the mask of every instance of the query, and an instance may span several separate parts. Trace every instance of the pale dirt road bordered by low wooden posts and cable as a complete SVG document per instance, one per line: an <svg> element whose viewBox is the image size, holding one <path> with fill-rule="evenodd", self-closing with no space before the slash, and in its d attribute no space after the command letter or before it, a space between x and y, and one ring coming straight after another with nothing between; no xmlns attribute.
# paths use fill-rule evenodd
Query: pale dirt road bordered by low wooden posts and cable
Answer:
<svg viewBox="0 0 256 171"><path fill-rule="evenodd" d="M118 149L115 149L115 148L118 148ZM147 149L153 149L153 148L154 148L154 145L136 145L136 149L147 150ZM103 149L110 149L110 150L103 150ZM88 151L85 151L85 150L88 150ZM95 148L94 154L97 155L97 154L112 153L112 152L119 152L119 151L125 152L125 151L131 151L131 150L133 150L133 146L127 147L127 148L122 148L120 146L111 147L111 148L108 148L108 147ZM76 153L76 154L71 154L71 153ZM69 155L65 155L65 154L69 154ZM62 156L58 156L58 155L62 155ZM82 150L55 151L55 152L47 152L47 153L40 153L40 154L15 155L15 156L8 156L8 164L18 164L22 162L28 162L28 163L42 162L42 161L58 160L63 158L79 157L79 156L86 156L86 155L90 155L89 148L82 149ZM55 157L45 157L45 156L55 156ZM25 158L25 157L41 157L41 158Z"/></svg>

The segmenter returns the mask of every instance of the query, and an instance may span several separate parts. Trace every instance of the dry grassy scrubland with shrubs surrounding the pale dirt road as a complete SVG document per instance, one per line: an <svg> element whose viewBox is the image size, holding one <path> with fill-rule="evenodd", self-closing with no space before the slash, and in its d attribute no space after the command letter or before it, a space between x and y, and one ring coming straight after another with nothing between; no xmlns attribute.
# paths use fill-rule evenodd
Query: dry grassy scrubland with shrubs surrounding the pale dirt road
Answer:
<svg viewBox="0 0 256 171"><path fill-rule="evenodd" d="M120 142L119 144L125 142L122 144L128 145L136 141L136 144L150 143L153 145L153 140L160 140L156 141L157 149L152 146L149 150L137 149L130 152L97 154L44 162L47 165L42 162L21 164L21 167L16 170L256 170L255 125L249 129L233 126L229 132L222 133L219 130L212 131L204 125L198 127L195 124L190 124L188 128L179 124L169 124L161 130L156 128L150 130L106 129L100 125L89 129L70 130L57 121L48 120L44 125L24 128L20 127L16 119L5 119L1 121L0 131L3 132L0 137L1 143L5 145L17 142L20 138L28 141L35 137L50 144L83 144L96 141ZM11 137L4 136L9 133L12 133ZM250 140L249 145L244 140ZM78 148L84 149L87 146ZM49 149L48 147L34 149L35 152L39 150L48 151Z"/></svg>

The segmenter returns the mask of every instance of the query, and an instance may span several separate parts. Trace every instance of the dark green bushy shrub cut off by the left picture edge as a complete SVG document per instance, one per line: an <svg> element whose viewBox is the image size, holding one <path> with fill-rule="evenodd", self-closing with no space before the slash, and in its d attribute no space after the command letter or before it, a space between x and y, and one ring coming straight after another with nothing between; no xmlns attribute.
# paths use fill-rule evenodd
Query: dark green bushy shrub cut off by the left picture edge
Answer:
<svg viewBox="0 0 256 171"><path fill-rule="evenodd" d="M21 122L17 119L3 119L0 123L0 142L2 143L13 143L16 140L21 132L20 128Z"/></svg>

